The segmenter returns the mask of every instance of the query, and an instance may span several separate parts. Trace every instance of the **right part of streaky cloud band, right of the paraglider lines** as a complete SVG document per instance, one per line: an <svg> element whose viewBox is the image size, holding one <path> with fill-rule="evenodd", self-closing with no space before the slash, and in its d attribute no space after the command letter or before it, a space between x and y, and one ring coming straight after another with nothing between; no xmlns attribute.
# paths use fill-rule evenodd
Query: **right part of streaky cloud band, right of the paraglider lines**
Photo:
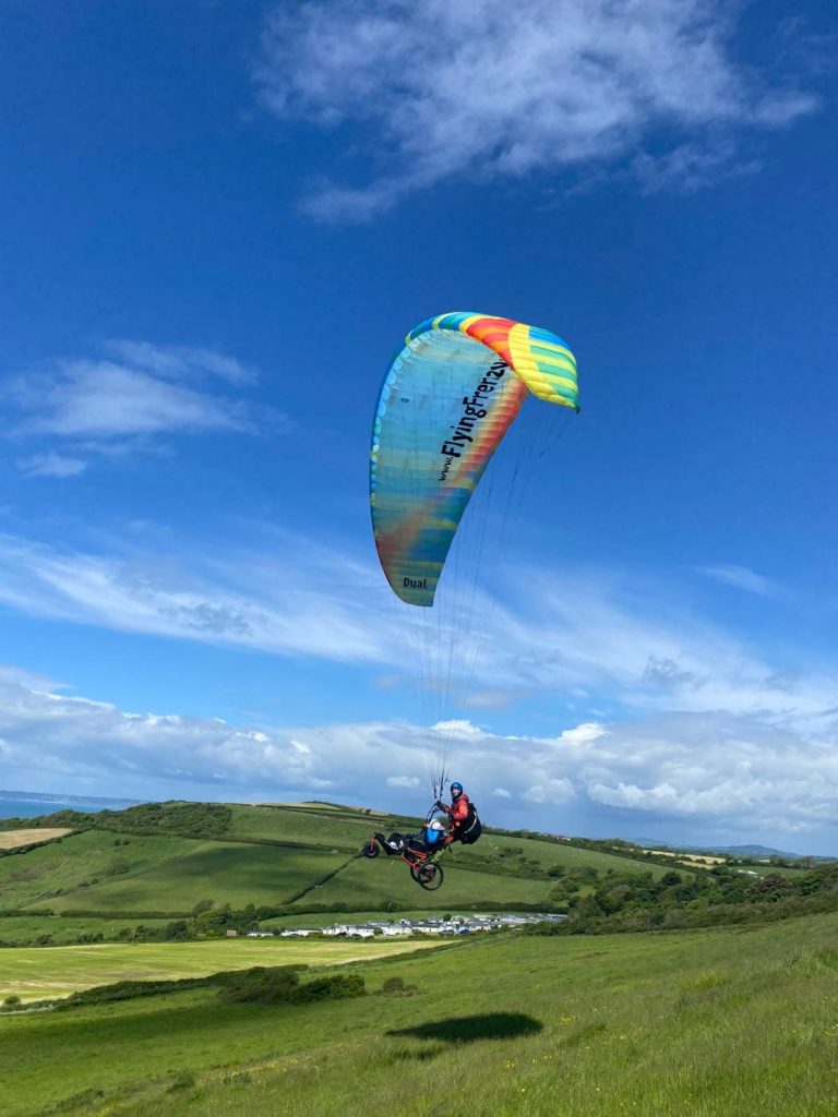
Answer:
<svg viewBox="0 0 838 1117"><path fill-rule="evenodd" d="M724 628L648 591L618 581L574 579L558 592L533 572L530 596L495 613L498 646L518 685L596 691L636 709L727 709L803 725L838 705L838 671L800 652L793 669ZM501 642L503 641L503 642ZM498 646L492 647L494 656ZM503 655L503 652L502 652ZM496 666L497 660L493 661Z"/></svg>

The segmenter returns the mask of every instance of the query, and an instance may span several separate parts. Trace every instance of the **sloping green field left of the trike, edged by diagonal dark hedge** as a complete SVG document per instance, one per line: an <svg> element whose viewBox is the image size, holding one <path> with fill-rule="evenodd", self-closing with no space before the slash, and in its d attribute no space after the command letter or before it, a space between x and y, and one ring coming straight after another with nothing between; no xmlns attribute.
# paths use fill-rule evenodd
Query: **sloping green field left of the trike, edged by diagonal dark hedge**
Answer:
<svg viewBox="0 0 838 1117"><path fill-rule="evenodd" d="M87 908L117 914L187 913L203 899L237 908L283 904L340 868L346 857L327 847L291 849L192 840L177 857L145 872L112 877L83 891L65 890L60 897L45 900L44 906L55 911Z"/></svg>

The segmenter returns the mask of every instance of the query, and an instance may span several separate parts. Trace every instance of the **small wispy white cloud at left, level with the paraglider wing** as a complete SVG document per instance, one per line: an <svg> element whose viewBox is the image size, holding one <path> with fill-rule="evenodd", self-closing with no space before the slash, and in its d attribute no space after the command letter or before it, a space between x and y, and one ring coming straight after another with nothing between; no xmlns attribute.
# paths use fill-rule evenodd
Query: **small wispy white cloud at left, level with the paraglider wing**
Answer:
<svg viewBox="0 0 838 1117"><path fill-rule="evenodd" d="M254 381L234 357L147 342L105 349L114 360L63 360L6 381L7 437L47 443L19 459L26 476L74 477L94 457L158 449L161 439L259 429L251 403L211 386L218 379L237 389ZM282 417L269 418L282 426Z"/></svg>

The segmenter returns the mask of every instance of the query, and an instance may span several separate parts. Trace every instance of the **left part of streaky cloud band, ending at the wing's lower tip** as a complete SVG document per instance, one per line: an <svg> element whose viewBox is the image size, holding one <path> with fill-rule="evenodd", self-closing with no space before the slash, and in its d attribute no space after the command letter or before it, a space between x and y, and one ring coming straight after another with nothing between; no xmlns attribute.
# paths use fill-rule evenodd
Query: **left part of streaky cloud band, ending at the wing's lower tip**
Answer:
<svg viewBox="0 0 838 1117"><path fill-rule="evenodd" d="M23 612L277 655L394 659L392 626L370 626L363 589L352 563L313 546L303 570L230 546L196 556L189 570L153 553L89 554L0 536L0 601Z"/></svg>

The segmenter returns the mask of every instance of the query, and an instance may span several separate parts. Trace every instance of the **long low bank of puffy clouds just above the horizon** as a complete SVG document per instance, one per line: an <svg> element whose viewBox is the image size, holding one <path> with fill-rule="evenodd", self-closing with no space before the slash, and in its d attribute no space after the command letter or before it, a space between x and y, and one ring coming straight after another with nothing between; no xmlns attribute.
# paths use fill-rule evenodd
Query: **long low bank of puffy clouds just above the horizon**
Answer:
<svg viewBox="0 0 838 1117"><path fill-rule="evenodd" d="M366 803L372 781L392 790L397 806L408 795L410 809L425 786L411 773L437 741L404 722L278 728L132 713L45 689L45 681L0 668L0 755L4 779L21 789L132 798L327 791ZM569 817L596 814L612 833L663 821L688 823L705 841L732 830L834 839L835 728L802 735L727 713L670 713L612 722L597 734L584 725L554 737L484 732L460 742L456 756L472 798L495 802L484 814L497 824L525 819L531 829L566 832Z"/></svg>

